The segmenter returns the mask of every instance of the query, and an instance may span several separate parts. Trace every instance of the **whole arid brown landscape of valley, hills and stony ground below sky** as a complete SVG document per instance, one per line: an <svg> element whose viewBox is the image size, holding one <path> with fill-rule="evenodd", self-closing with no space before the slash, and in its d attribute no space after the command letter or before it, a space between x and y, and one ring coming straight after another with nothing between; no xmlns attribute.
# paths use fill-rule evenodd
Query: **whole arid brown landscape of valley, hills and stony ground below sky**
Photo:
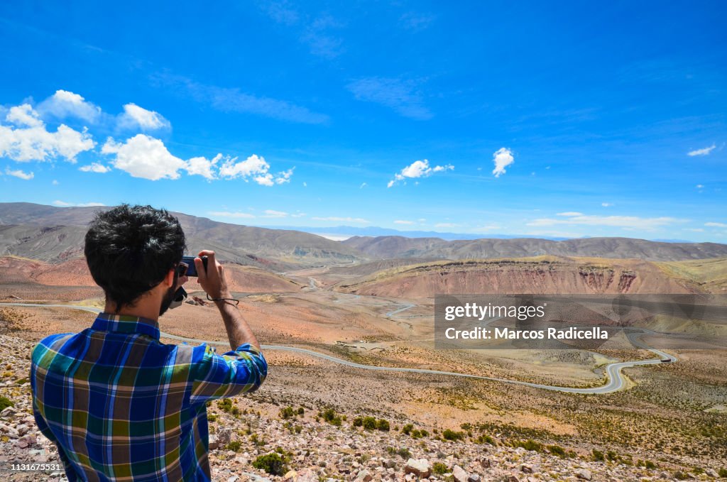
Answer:
<svg viewBox="0 0 727 482"><path fill-rule="evenodd" d="M55 460L28 419L28 358L42 337L81 331L103 308L82 257L91 214L0 205L0 396L13 403L0 413L6 461ZM611 377L606 366L654 353L608 345L437 350L433 324L435 294L727 294L726 245L332 241L183 214L180 220L190 252L209 247L225 260L239 307L268 347L270 373L260 390L209 407L219 480L727 476L725 350L664 349L674 363L626 367L619 390L568 393L558 387L601 387ZM160 318L163 341L218 343L223 353L217 310L196 282L186 288L189 302ZM715 337L727 335L724 321L704 324ZM683 329L669 318L645 326ZM253 465L273 451L286 474Z"/></svg>

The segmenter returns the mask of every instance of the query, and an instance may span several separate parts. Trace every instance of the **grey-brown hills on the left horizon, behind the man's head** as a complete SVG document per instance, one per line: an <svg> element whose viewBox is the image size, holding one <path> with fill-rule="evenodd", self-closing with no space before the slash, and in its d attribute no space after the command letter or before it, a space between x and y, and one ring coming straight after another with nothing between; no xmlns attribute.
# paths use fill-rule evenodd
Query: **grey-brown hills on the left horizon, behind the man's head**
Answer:
<svg viewBox="0 0 727 482"><path fill-rule="evenodd" d="M79 257L83 252L85 227L99 209L109 208L0 203L0 255L12 254L47 262ZM182 223L191 253L203 248L214 249L222 259L278 271L362 257L350 246L315 234L173 214Z"/></svg>

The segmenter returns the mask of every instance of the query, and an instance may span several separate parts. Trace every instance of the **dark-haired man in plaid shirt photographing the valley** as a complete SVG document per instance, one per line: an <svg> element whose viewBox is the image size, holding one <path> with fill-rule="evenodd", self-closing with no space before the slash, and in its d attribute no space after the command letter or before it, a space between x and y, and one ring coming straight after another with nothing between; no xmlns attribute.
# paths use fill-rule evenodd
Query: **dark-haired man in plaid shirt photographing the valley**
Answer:
<svg viewBox="0 0 727 482"><path fill-rule="evenodd" d="M232 351L159 342L158 318L186 281L177 218L150 206L97 214L85 254L106 305L89 329L33 350L33 411L69 481L209 481L206 402L260 387L260 345L232 300L225 270L194 262Z"/></svg>

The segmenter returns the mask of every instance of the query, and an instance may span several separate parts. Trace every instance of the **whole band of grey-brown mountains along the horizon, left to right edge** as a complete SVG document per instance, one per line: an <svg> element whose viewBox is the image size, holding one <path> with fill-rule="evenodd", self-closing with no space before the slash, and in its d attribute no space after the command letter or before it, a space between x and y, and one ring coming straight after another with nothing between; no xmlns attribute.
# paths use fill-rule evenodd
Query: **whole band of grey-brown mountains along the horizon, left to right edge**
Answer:
<svg viewBox="0 0 727 482"><path fill-rule="evenodd" d="M109 208L0 203L0 255L13 254L47 262L81 257L85 227L100 209ZM438 236L354 236L345 241L332 241L300 230L234 225L184 213L174 215L179 217L185 230L189 252L214 249L222 259L273 271L388 258L461 260L550 254L677 261L727 257L727 244L632 238L447 240L441 238L442 233L436 233Z"/></svg>

